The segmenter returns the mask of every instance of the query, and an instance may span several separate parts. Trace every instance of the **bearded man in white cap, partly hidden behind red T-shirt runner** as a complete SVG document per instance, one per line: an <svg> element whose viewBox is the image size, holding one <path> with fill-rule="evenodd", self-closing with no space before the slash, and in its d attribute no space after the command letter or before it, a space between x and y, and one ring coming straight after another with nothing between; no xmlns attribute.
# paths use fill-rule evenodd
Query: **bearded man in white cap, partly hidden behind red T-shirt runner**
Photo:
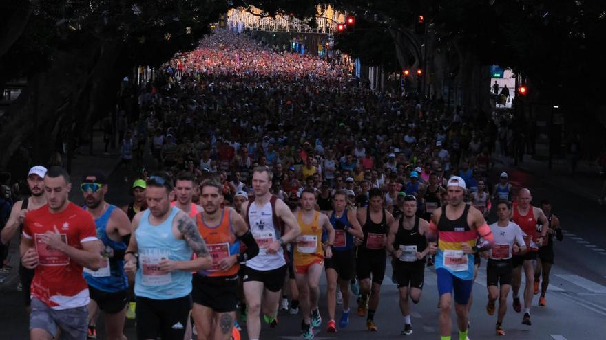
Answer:
<svg viewBox="0 0 606 340"><path fill-rule="evenodd" d="M12 206L10 216L6 222L6 226L2 229L1 240L4 245L8 245L8 242L12 240L13 236L17 231L23 232L23 220L27 216L28 212L31 212L39 207L46 204L46 196L44 194L44 176L46 174L46 168L43 166L33 166L28 172L28 187L32 196L24 199L23 201L17 201ZM25 310L30 313L32 297L30 296L30 288L32 286L32 280L34 279L34 270L23 267L23 264L19 263L19 280L21 282L21 292L23 293L23 302L25 302Z"/></svg>

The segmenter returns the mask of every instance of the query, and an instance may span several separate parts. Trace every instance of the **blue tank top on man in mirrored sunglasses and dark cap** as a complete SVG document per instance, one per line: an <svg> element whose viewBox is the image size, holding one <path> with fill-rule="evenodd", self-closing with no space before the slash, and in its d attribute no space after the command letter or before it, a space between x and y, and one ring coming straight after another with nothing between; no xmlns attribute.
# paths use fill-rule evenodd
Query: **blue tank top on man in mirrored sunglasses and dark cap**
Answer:
<svg viewBox="0 0 606 340"><path fill-rule="evenodd" d="M112 216L112 212L116 209L115 205L109 205L107 210L99 218L95 220L95 226L97 229L97 238L103 242L104 246L109 246L116 250L124 251L126 249L126 243L122 241L114 241L107 236L107 222ZM101 269L97 271L91 271L90 269L84 269L83 274L86 283L99 291L105 291L109 293L115 293L124 291L128 288L128 279L124 273L124 261L116 260L115 258L103 258L103 264Z"/></svg>

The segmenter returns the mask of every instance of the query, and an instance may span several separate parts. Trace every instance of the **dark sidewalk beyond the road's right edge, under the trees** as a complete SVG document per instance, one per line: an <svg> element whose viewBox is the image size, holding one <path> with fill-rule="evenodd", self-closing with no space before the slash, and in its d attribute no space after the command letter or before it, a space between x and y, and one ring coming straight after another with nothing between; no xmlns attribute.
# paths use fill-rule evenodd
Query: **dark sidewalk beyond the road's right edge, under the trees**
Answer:
<svg viewBox="0 0 606 340"><path fill-rule="evenodd" d="M547 166L547 161L537 161L530 155L524 155L524 161L514 165L511 157L505 157L499 153L491 156L495 168L515 168L527 172L547 185L561 188L563 192L582 196L589 201L598 203L600 190L602 190L603 179L600 176L600 168L589 161L579 161L576 174L570 174L568 163L565 159L552 160L552 169Z"/></svg>

